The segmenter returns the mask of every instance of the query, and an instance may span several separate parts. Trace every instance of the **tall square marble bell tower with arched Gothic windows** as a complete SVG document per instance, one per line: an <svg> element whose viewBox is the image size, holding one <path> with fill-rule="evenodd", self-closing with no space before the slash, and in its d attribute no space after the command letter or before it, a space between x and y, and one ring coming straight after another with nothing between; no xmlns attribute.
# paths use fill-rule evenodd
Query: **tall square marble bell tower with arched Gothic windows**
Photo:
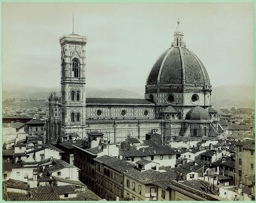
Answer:
<svg viewBox="0 0 256 203"><path fill-rule="evenodd" d="M86 36L74 32L60 37L60 135L85 136L86 43Z"/></svg>

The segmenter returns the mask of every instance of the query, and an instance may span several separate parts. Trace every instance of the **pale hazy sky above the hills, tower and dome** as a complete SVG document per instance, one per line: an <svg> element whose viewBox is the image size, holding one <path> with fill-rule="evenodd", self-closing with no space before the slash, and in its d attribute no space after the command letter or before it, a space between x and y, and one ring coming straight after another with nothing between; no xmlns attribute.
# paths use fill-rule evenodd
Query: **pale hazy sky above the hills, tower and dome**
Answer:
<svg viewBox="0 0 256 203"><path fill-rule="evenodd" d="M213 86L254 83L253 3L2 3L3 83L60 86L59 37L87 36L88 87L144 88L180 19Z"/></svg>

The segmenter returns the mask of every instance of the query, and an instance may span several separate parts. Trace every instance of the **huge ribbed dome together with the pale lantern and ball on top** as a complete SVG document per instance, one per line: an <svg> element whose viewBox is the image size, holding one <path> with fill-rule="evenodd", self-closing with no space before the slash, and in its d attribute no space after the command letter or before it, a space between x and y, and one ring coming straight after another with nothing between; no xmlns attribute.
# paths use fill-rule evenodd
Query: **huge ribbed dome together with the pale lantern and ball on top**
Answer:
<svg viewBox="0 0 256 203"><path fill-rule="evenodd" d="M210 88L203 63L186 47L179 20L177 23L171 47L159 56L147 76L146 93L181 93L191 86Z"/></svg>

